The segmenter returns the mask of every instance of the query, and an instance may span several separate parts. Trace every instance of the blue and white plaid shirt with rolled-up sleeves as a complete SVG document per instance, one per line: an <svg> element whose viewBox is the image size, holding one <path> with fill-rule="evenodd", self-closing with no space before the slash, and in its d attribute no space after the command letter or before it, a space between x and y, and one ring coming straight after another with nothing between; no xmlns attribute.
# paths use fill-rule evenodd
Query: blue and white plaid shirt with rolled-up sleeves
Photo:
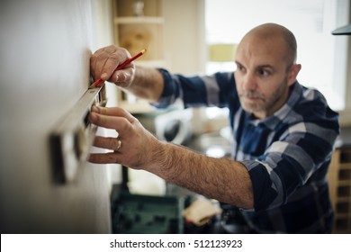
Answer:
<svg viewBox="0 0 351 252"><path fill-rule="evenodd" d="M254 209L241 210L247 224L260 233L324 233L333 211L326 179L338 113L320 92L296 82L287 103L260 120L245 112L238 99L234 73L212 76L170 75L156 105L181 99L185 107L229 108L232 158L247 167Z"/></svg>

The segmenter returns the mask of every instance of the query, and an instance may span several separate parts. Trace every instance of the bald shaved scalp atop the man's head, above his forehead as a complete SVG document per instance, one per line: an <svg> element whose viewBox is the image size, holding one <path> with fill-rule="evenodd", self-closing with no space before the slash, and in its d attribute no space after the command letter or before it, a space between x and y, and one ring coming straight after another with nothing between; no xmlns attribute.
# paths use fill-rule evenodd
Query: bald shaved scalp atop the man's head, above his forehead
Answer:
<svg viewBox="0 0 351 252"><path fill-rule="evenodd" d="M287 64L291 65L296 61L297 43L295 36L293 35L292 31L289 31L282 25L276 23L261 24L251 31L248 31L244 38L240 41L240 44L246 43L248 40L260 40L267 42L274 40L275 43L283 43L284 49L286 50L284 57L287 60Z"/></svg>

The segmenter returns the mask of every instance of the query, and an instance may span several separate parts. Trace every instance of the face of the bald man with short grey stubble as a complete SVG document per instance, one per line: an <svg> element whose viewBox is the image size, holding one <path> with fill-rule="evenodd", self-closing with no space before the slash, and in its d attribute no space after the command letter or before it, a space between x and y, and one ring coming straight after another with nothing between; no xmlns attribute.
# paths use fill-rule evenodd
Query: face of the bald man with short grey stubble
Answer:
<svg viewBox="0 0 351 252"><path fill-rule="evenodd" d="M287 101L289 86L295 82L288 65L286 45L280 38L247 36L238 46L235 72L238 96L243 109L265 118Z"/></svg>

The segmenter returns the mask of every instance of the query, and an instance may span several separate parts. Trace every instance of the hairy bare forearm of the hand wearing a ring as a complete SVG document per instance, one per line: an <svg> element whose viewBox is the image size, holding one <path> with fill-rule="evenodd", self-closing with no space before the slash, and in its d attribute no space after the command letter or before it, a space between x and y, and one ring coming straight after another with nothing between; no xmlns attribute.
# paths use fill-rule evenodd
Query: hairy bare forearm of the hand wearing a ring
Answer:
<svg viewBox="0 0 351 252"><path fill-rule="evenodd" d="M241 163L229 158L206 157L170 143L160 144L148 167L150 172L220 202L253 208L251 180Z"/></svg>

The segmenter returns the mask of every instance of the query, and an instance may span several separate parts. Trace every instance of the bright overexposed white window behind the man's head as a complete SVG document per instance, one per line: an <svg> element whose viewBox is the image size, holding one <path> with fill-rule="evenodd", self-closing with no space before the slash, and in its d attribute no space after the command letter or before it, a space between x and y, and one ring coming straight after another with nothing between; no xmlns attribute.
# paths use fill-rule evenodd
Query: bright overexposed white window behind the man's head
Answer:
<svg viewBox="0 0 351 252"><path fill-rule="evenodd" d="M331 31L348 24L347 0L206 0L206 43L238 43L261 23L279 23L293 31L298 42L302 85L324 94L334 110L345 108L347 36ZM233 70L233 62L208 62L206 71Z"/></svg>

